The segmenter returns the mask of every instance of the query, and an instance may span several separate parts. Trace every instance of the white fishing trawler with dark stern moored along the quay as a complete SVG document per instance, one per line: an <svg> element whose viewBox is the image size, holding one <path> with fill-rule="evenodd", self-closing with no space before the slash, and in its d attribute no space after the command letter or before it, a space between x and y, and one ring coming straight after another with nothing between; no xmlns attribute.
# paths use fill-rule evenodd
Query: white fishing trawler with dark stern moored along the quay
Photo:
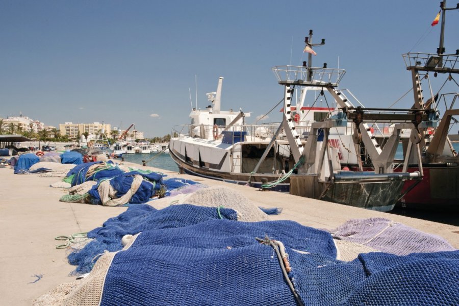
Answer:
<svg viewBox="0 0 459 306"><path fill-rule="evenodd" d="M308 47L313 46L311 41L312 31L305 39ZM402 130L414 135L419 124L434 126L438 121L435 112L392 110L391 122L395 124L382 147L373 136L374 128L364 121L370 110L354 107L346 94L354 96L338 89L343 69L327 68L326 64L312 67L310 59L309 65L276 66L273 72L278 84L284 86L283 121L248 125L245 118L249 114L242 110L221 111L220 78L217 91L208 94L212 105L206 110L193 109L191 124L172 131L176 137L170 141L170 155L181 171L379 211L393 209L405 181L422 179L419 143L411 138L407 142L410 151L418 152L411 161L417 163L417 170L407 171L406 159L403 171L394 172L394 156ZM300 96L293 106L296 88ZM311 91L319 92L316 101L330 95L337 108L328 107L321 121L304 124L314 110L314 104L309 110L302 105ZM371 123L382 122L386 116L372 113ZM365 171L363 156L371 157L366 161L372 171ZM350 171L348 166L352 165L358 169Z"/></svg>

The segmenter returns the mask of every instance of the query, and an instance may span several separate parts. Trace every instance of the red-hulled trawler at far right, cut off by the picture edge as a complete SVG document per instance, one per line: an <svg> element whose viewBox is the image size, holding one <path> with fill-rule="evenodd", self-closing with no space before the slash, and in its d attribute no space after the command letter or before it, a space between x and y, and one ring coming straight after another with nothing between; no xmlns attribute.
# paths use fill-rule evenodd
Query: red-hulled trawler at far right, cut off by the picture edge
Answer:
<svg viewBox="0 0 459 306"><path fill-rule="evenodd" d="M406 69L411 72L413 83L413 109L418 113L442 113L439 124L417 124L416 133L403 137L403 158L408 160L408 166L401 171L418 171L413 165L413 159L421 159L423 180L406 182L400 199L403 207L427 209L435 211L459 211L459 156L448 138L448 132L458 121L453 116L459 115L457 100L459 100L459 84L453 75L459 73L459 49L455 54L448 54L444 48L445 14L448 10L446 1L440 3L441 11L432 26L440 21L440 43L437 53L407 53L403 54ZM433 79L432 79L433 77ZM443 80L441 80L443 79ZM433 82L436 81L436 82ZM438 87L434 88L434 83ZM453 89L445 90L450 85ZM429 97L424 100L424 93ZM420 152L413 154L409 142L418 143Z"/></svg>

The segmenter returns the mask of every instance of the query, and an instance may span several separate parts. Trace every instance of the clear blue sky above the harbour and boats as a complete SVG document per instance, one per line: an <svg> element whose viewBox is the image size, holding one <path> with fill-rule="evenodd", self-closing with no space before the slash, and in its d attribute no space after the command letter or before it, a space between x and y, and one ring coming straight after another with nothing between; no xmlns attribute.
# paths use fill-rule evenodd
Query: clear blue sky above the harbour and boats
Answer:
<svg viewBox="0 0 459 306"><path fill-rule="evenodd" d="M436 52L440 25L430 23L439 4L3 0L0 117L22 112L55 126L135 123L147 137L163 136L189 122L196 75L199 108L224 77L222 110L242 107L254 119L283 98L271 67L307 60L310 29L313 42L326 39L314 66L336 67L339 57L347 71L340 87L367 107L387 107L411 87L401 54ZM446 52L454 53L459 11L448 11L446 21ZM412 94L399 107L410 103Z"/></svg>

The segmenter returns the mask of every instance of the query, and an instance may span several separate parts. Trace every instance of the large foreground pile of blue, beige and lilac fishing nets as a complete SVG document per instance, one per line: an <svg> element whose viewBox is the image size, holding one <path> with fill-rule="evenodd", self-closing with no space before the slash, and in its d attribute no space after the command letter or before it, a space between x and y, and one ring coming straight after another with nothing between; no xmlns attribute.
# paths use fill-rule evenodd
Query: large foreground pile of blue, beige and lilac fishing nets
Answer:
<svg viewBox="0 0 459 306"><path fill-rule="evenodd" d="M188 197L200 193L209 203L206 189ZM91 272L36 305L459 304L459 251L439 237L385 219L353 220L332 231L285 220L244 222L235 208L250 201L230 193L220 191L234 201L216 196L213 207L129 207L91 231L93 240L69 258L80 273ZM341 261L334 237L384 252Z"/></svg>

